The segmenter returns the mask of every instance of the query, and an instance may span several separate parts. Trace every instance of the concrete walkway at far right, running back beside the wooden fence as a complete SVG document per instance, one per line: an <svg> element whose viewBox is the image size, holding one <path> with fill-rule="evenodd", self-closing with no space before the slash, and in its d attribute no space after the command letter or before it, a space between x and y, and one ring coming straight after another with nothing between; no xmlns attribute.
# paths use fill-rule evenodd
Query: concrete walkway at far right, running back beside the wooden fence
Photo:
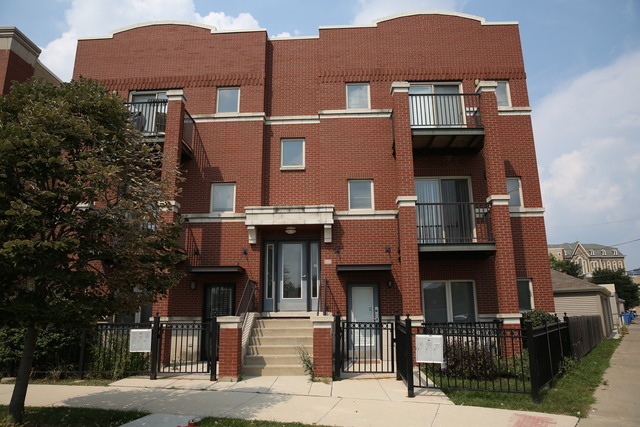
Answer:
<svg viewBox="0 0 640 427"><path fill-rule="evenodd" d="M627 326L629 334L611 358L603 383L595 392L596 404L580 427L637 426L640 424L640 318Z"/></svg>

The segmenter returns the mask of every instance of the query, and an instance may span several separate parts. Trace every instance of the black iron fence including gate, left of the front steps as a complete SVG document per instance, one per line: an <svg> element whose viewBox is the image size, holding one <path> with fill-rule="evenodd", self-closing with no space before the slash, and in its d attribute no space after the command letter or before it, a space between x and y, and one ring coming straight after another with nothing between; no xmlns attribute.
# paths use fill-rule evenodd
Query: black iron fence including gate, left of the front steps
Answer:
<svg viewBox="0 0 640 427"><path fill-rule="evenodd" d="M88 330L47 329L39 334L32 372L53 378L118 379L158 373L209 373L217 377L217 319L211 322L100 323ZM132 330L148 330L150 351L130 351ZM0 330L0 374L15 376L24 331Z"/></svg>

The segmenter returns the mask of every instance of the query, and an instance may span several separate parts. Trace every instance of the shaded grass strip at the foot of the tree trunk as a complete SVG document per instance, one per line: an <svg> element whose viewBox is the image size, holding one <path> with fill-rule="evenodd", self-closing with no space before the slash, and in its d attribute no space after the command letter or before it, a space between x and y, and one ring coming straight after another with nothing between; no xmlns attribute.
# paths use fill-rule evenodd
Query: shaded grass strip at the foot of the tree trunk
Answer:
<svg viewBox="0 0 640 427"><path fill-rule="evenodd" d="M117 427L148 415L139 411L116 411L93 408L66 407L27 407L24 411L24 424L28 427ZM9 407L0 405L0 426L9 424Z"/></svg>

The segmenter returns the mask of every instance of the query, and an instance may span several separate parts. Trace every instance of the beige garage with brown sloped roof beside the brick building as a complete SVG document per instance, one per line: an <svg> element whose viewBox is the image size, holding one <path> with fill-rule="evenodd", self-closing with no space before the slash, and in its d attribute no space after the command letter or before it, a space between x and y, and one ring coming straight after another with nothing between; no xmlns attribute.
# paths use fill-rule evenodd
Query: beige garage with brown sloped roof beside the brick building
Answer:
<svg viewBox="0 0 640 427"><path fill-rule="evenodd" d="M570 317L598 315L604 336L611 334L614 329L611 292L606 287L556 270L551 270L551 283L558 317L564 313Z"/></svg>

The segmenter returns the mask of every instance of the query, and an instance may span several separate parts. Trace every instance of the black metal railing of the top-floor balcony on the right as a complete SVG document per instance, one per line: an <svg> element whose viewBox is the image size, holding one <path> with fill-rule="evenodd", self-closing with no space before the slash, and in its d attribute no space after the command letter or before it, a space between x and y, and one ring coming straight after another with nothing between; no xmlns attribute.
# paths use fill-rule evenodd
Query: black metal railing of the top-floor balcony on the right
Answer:
<svg viewBox="0 0 640 427"><path fill-rule="evenodd" d="M481 129L479 101L475 93L409 95L411 127Z"/></svg>

